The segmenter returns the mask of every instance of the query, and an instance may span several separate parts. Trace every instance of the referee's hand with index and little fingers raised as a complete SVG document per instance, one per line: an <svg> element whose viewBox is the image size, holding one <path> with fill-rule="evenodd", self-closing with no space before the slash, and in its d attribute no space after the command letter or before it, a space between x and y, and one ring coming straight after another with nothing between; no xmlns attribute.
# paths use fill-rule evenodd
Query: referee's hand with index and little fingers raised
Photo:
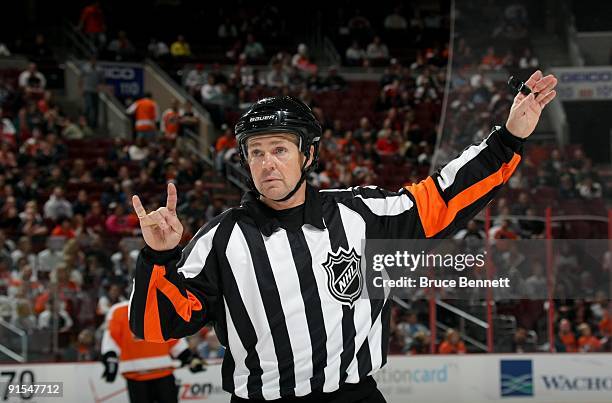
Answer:
<svg viewBox="0 0 612 403"><path fill-rule="evenodd" d="M132 197L134 211L140 220L140 228L145 242L151 249L164 251L174 249L183 236L183 225L176 216L176 187L168 183L166 207L160 207L147 214L140 198Z"/></svg>

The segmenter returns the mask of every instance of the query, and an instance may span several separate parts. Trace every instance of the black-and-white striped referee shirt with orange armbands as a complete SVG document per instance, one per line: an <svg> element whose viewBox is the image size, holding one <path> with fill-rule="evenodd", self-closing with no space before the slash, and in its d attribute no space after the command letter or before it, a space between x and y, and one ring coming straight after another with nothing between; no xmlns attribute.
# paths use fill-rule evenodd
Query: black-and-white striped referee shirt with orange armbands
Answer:
<svg viewBox="0 0 612 403"><path fill-rule="evenodd" d="M390 301L363 298L362 240L447 237L515 171L523 140L505 127L425 180L319 191L304 224L284 229L254 195L202 227L181 251L145 247L130 327L163 342L215 326L224 390L272 400L358 383L387 360Z"/></svg>

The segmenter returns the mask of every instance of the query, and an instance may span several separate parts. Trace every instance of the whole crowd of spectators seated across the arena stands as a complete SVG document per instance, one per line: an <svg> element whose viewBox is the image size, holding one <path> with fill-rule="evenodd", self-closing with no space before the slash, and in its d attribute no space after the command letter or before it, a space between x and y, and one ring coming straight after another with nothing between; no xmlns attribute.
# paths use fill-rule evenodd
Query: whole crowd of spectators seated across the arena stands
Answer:
<svg viewBox="0 0 612 403"><path fill-rule="evenodd" d="M459 36L450 83L446 82L448 34L438 43L426 40L429 33L447 29L445 12L394 8L384 10L386 14L372 23L372 17L364 17L369 12L354 10L348 16L350 7L341 8L344 15L338 13L336 23L329 26L339 27L333 37L344 56L343 65L384 68L372 91L357 92L364 95L367 113L351 114L349 119L335 114L334 108L348 94L355 94L351 91L356 84L345 78L342 66L320 67L305 43L280 40L289 28L277 24L280 11L275 6L219 19L213 38L223 43L223 58L218 60L233 66L228 70L205 61L202 48L190 43L194 36L188 32L169 38L147 36L148 46L140 47L142 38L133 41L129 32L109 29L107 22L111 21L106 21L100 2L83 9L79 28L102 58L141 59L145 55L139 49L146 49L146 56L160 63L178 63L182 84L209 110L220 129L215 144L220 171L226 163L238 161L232 127L240 112L262 96L292 94L308 103L323 122L320 164L310 178L313 183L323 188L364 184L397 188L429 172L447 84L452 90L437 164L449 161L467 144L483 139L493 124L505 121L513 95L505 82L492 80L489 73L532 71L539 66L527 35L528 9L511 5L502 10L489 3L478 7L479 2L472 1L472 8L464 12L479 12L483 18L502 16L501 21L489 20L488 32L511 46L483 47L469 35ZM461 32L465 20L458 21ZM394 39L408 34L414 46L410 57L397 53ZM0 45L0 54L9 52L4 48L6 51ZM37 37L35 48L35 54L45 55L44 37ZM184 130L197 127L189 103L181 107L173 102L161 112L150 94L128 100L126 109L135 116L139 110L155 111L150 127L135 127L134 141L100 143L106 146L104 154L93 159L73 154L72 147L78 140L92 139L97 126L92 112L97 110L97 98L92 94L99 90L102 79L96 60L83 71L86 108L76 119L62 114L36 63L13 82L0 79L0 314L33 336L52 329L56 326L53 318L59 318L62 350L56 358L64 360L96 359L105 313L129 295L130 276L142 246L138 220L129 204L132 194L144 192L149 209L164 200L168 180L177 183L179 192L188 190L182 193L178 207L186 229L183 242L230 204L211 193L203 180L206 168L202 162L195 156L179 155L173 147ZM390 171L385 166L399 172L401 182L387 181ZM85 190L89 188L98 191ZM598 201L603 194L597 173L580 148L527 153L508 188L493 205L496 218L488 234L479 222L472 221L457 238L542 238L544 224L529 219L543 214L542 195L551 200ZM566 263L575 267L580 261L568 254ZM526 287L538 287L545 281L543 265L527 271ZM588 280L576 281L588 284ZM556 304L554 349L609 351L612 321L607 303L593 295ZM531 316L524 307L510 305L504 308L517 318L518 327L509 351L545 348L543 340L534 338L534 329L542 333L538 329L542 304L529 305L534 312ZM454 328L432 340L424 312L423 308L393 308L391 353L467 352L462 335ZM213 331L204 329L193 340L204 357L223 355Z"/></svg>

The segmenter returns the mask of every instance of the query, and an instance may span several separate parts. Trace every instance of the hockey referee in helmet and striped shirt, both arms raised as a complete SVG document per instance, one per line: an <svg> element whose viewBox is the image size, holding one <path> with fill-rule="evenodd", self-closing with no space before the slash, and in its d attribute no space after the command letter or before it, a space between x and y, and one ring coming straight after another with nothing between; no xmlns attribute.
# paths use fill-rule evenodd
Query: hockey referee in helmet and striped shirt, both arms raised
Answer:
<svg viewBox="0 0 612 403"><path fill-rule="evenodd" d="M363 239L461 229L516 170L556 83L536 71L526 82L533 92L516 95L505 126L398 192L313 188L305 179L317 162L317 119L292 97L258 101L235 128L253 183L239 207L181 250L174 185L166 206L150 213L133 197L146 246L132 331L164 342L213 324L226 346L222 378L231 402L384 402L372 374L387 361L390 301L359 298L359 270L345 271L355 276L348 286L333 280L359 261Z"/></svg>

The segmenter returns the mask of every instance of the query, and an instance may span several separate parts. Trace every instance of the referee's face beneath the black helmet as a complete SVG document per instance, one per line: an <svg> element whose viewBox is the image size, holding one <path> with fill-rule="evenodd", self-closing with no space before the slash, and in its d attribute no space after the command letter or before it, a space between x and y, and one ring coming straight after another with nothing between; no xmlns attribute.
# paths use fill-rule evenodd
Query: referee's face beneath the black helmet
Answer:
<svg viewBox="0 0 612 403"><path fill-rule="evenodd" d="M297 143L289 133L262 134L247 141L251 176L264 197L282 199L300 179L305 157Z"/></svg>

